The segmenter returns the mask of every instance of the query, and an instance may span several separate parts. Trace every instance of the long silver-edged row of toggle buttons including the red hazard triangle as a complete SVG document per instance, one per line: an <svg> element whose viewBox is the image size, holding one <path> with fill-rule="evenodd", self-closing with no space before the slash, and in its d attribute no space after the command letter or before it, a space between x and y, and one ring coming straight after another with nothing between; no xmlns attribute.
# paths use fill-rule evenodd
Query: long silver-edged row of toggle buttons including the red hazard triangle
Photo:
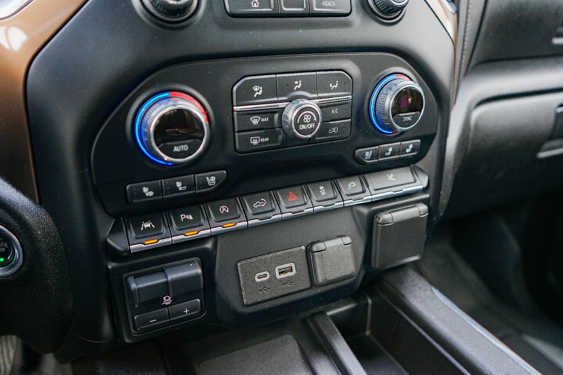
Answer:
<svg viewBox="0 0 563 375"><path fill-rule="evenodd" d="M125 220L129 249L142 251L423 188L414 168L403 167L133 216Z"/></svg>

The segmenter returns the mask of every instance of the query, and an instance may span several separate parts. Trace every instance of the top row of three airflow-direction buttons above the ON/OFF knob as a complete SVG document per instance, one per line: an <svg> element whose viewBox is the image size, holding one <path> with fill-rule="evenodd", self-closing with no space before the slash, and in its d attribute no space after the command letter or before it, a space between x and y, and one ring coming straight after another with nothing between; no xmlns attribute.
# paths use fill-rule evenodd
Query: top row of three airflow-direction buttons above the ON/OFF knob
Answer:
<svg viewBox="0 0 563 375"><path fill-rule="evenodd" d="M352 94L352 79L343 71L270 74L241 79L233 88L233 105L249 106L322 99ZM244 110L244 108L242 109Z"/></svg>

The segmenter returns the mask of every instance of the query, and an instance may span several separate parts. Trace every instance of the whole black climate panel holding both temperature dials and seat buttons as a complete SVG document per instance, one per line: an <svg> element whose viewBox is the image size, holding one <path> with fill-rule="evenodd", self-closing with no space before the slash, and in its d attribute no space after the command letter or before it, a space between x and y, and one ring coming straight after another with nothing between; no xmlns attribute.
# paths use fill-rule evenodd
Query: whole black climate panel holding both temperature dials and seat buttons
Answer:
<svg viewBox="0 0 563 375"><path fill-rule="evenodd" d="M389 53L177 64L113 111L93 178L123 218L400 168L426 155L437 114L422 77Z"/></svg>

